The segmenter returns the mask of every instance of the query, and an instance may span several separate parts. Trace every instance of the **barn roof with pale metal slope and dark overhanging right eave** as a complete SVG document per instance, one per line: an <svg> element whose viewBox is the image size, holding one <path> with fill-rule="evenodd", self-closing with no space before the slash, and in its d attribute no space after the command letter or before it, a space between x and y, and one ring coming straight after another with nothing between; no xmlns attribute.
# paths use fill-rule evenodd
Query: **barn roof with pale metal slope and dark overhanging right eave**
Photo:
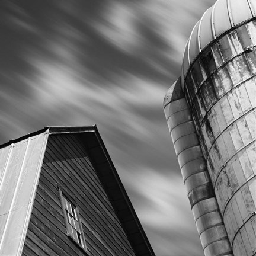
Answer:
<svg viewBox="0 0 256 256"><path fill-rule="evenodd" d="M19 255L23 247L48 137L71 133L86 145L135 254L154 256L97 126L45 127L0 146L1 254L10 255L11 248Z"/></svg>

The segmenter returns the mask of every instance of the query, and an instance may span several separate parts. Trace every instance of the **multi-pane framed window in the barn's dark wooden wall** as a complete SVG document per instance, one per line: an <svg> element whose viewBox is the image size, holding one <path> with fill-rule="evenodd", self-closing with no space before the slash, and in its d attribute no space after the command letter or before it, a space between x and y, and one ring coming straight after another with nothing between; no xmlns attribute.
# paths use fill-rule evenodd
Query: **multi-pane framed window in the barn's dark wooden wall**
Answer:
<svg viewBox="0 0 256 256"><path fill-rule="evenodd" d="M66 231L77 244L79 244L85 250L84 233L82 230L81 219L79 216L78 207L72 204L59 190L60 199L62 201L63 215L66 223Z"/></svg>

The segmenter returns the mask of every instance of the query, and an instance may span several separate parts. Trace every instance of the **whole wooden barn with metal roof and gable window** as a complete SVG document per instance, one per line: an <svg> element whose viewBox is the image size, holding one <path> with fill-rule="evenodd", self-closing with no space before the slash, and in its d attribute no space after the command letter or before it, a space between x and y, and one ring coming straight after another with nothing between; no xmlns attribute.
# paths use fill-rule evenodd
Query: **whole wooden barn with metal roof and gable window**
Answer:
<svg viewBox="0 0 256 256"><path fill-rule="evenodd" d="M96 126L46 127L0 154L1 253L154 255Z"/></svg>

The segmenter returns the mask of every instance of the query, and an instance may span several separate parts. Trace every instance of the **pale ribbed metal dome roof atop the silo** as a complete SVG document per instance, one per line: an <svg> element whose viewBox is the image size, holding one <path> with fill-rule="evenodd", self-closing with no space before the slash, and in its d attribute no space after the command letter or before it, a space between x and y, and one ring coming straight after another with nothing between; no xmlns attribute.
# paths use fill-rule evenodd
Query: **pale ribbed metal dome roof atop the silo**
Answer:
<svg viewBox="0 0 256 256"><path fill-rule="evenodd" d="M217 0L204 12L187 41L181 69L181 81L191 63L213 40L231 28L256 17L255 0Z"/></svg>

